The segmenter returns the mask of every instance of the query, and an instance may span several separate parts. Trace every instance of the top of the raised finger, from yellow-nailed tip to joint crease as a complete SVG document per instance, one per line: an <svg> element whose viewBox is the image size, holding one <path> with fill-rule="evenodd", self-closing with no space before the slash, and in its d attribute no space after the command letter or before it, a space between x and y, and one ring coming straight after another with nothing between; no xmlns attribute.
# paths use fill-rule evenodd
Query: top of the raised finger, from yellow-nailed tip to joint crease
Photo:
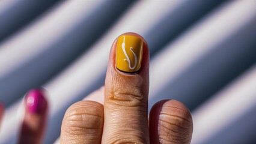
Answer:
<svg viewBox="0 0 256 144"><path fill-rule="evenodd" d="M114 41L109 55L105 102L115 103L117 100L117 104L126 104L124 101L147 103L148 88L149 50L145 39L135 32L121 34Z"/></svg>

